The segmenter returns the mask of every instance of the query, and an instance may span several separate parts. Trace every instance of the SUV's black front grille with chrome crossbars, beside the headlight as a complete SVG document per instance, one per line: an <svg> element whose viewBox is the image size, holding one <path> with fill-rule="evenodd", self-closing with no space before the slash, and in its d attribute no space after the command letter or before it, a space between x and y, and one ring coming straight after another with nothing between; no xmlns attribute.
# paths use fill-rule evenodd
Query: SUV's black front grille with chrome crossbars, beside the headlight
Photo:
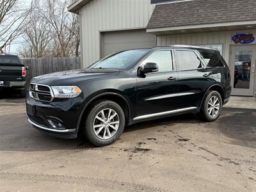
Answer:
<svg viewBox="0 0 256 192"><path fill-rule="evenodd" d="M53 95L50 86L30 83L29 95L32 99L51 102Z"/></svg>

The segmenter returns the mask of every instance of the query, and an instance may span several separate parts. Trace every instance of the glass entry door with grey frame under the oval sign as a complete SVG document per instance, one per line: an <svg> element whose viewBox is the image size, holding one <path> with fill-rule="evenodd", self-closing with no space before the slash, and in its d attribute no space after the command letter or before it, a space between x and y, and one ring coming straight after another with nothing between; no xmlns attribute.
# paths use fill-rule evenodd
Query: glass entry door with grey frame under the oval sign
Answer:
<svg viewBox="0 0 256 192"><path fill-rule="evenodd" d="M232 95L253 96L256 46L231 48Z"/></svg>

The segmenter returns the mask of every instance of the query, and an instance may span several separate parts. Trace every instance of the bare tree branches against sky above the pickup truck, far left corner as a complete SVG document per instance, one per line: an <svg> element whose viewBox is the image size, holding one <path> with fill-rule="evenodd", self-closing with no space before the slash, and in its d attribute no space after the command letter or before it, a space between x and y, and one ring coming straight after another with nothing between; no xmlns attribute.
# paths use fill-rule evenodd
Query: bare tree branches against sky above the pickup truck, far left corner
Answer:
<svg viewBox="0 0 256 192"><path fill-rule="evenodd" d="M20 0L0 0L0 52L20 36L24 20L31 12L31 6L23 6Z"/></svg>

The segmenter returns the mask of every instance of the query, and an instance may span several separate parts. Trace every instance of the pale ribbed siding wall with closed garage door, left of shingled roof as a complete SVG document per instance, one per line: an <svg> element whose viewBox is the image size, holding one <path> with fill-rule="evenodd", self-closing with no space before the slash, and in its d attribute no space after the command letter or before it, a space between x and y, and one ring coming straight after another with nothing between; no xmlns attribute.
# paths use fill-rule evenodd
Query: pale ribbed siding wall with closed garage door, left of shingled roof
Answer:
<svg viewBox="0 0 256 192"><path fill-rule="evenodd" d="M93 0L79 5L82 2L76 2L79 6L76 12L81 14L84 67L111 52L156 45L155 36L146 33L148 20L154 10L154 4L150 1ZM71 11L74 10L73 6Z"/></svg>

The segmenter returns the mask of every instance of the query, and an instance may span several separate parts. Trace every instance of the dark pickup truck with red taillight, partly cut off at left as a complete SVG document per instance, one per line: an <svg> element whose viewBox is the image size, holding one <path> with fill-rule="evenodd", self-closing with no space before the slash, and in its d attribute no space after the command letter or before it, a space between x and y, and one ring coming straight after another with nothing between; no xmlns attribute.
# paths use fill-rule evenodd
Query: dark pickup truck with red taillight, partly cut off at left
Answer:
<svg viewBox="0 0 256 192"><path fill-rule="evenodd" d="M19 90L26 97L26 69L19 56L0 54L0 89Z"/></svg>

